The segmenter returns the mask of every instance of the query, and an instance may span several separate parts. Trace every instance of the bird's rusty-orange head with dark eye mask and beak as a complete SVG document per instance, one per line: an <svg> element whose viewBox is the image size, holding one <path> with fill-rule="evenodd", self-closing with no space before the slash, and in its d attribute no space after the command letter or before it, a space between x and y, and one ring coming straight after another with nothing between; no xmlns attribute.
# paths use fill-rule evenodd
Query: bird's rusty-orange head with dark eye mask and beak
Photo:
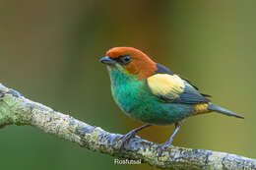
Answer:
<svg viewBox="0 0 256 170"><path fill-rule="evenodd" d="M124 74L144 80L157 71L156 63L145 53L133 47L114 47L109 49L100 62L107 65L108 70L117 69Z"/></svg>

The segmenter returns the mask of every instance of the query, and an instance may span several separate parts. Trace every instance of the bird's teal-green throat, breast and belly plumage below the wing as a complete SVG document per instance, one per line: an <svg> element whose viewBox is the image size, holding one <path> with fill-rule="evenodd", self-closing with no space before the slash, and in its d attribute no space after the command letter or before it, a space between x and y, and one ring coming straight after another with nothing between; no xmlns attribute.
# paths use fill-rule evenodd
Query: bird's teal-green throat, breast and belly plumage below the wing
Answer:
<svg viewBox="0 0 256 170"><path fill-rule="evenodd" d="M194 106L190 104L165 103L154 95L146 80L109 70L112 95L118 106L135 120L156 125L169 125L190 116Z"/></svg>

